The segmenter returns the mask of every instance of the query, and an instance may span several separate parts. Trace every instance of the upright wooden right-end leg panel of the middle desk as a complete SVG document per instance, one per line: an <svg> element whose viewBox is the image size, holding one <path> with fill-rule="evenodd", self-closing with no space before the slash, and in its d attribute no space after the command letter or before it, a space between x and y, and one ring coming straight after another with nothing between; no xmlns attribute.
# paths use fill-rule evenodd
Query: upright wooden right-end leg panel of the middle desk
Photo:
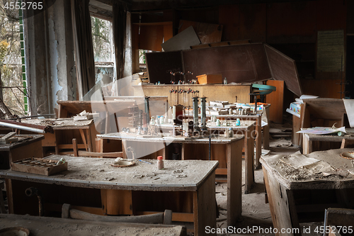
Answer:
<svg viewBox="0 0 354 236"><path fill-rule="evenodd" d="M227 225L236 225L241 217L242 141L227 145Z"/></svg>

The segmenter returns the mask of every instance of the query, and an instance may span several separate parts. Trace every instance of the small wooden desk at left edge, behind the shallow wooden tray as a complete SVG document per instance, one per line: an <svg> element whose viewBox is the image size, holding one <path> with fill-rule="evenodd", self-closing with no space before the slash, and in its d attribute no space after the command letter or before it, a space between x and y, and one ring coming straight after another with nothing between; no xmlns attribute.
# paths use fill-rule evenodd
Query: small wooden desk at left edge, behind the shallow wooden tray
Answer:
<svg viewBox="0 0 354 236"><path fill-rule="evenodd" d="M4 135L0 135L3 137ZM10 169L11 162L27 157L43 157L43 135L15 135L18 142L0 145L0 169Z"/></svg>

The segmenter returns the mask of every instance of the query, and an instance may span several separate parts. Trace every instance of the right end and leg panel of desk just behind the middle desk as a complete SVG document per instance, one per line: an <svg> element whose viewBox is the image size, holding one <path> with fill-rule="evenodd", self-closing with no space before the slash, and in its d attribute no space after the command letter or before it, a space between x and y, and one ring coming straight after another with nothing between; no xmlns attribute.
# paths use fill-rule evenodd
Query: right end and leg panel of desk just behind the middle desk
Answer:
<svg viewBox="0 0 354 236"><path fill-rule="evenodd" d="M235 121L235 120L234 120ZM254 140L256 138L256 121L242 120L240 126L216 126L214 123L207 123L207 128L212 134L232 128L235 135L244 135L244 159L245 159L245 187L244 193L247 194L254 184Z"/></svg>

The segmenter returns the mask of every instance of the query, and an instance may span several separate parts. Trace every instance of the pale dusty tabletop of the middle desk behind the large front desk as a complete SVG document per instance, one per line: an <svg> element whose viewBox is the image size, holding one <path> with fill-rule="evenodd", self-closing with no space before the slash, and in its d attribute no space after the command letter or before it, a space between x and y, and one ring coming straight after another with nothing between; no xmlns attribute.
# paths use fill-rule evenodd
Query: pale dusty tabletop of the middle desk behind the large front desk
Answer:
<svg viewBox="0 0 354 236"><path fill-rule="evenodd" d="M237 140L242 140L244 135L235 135L234 137L223 137L224 135L212 135L212 143L232 143ZM103 135L97 135L103 139L110 140L132 140L140 142L179 142L179 143L209 143L209 138L194 138L194 137L173 137L173 136L147 136L147 135L131 135L130 133L120 132L120 133L107 133Z"/></svg>

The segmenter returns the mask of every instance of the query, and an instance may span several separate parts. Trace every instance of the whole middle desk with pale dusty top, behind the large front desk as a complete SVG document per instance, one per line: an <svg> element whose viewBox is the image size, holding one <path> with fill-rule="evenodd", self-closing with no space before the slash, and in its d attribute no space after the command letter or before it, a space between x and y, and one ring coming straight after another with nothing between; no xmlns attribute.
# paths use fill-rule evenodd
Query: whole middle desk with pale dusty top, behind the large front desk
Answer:
<svg viewBox="0 0 354 236"><path fill-rule="evenodd" d="M171 153L173 153L173 145L171 144L180 144L182 160L209 159L209 138L143 137L122 132L97 135L97 137L102 140L122 140L123 154L126 154L127 147L132 147L137 158L156 159L157 155L161 155L164 159L171 159ZM224 176L227 176L227 225L235 225L242 211L241 159L244 135L214 137L210 141L210 159L219 161L219 168L215 174L222 176L222 180L225 179ZM248 168L251 167L248 166ZM246 184L248 188L251 188L251 183L247 182Z"/></svg>

